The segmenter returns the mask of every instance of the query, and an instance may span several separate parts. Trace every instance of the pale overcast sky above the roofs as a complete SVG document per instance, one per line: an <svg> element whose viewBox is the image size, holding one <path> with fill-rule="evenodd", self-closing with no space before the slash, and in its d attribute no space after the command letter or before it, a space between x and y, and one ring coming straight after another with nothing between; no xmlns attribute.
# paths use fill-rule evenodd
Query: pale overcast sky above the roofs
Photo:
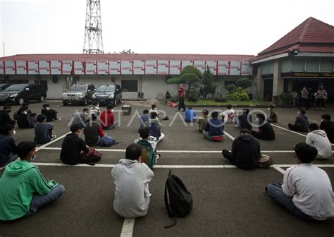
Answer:
<svg viewBox="0 0 334 237"><path fill-rule="evenodd" d="M1 56L82 53L87 0L0 0ZM104 52L254 54L333 0L101 0Z"/></svg>

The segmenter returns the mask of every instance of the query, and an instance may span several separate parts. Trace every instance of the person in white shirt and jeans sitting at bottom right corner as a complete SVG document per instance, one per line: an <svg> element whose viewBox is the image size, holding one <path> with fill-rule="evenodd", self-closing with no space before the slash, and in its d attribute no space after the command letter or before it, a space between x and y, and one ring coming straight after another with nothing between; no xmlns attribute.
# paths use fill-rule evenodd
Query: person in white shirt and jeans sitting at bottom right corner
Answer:
<svg viewBox="0 0 334 237"><path fill-rule="evenodd" d="M311 164L317 154L305 142L295 145L297 166L285 171L282 186L268 184L266 193L299 218L323 221L334 217L334 195L326 172Z"/></svg>

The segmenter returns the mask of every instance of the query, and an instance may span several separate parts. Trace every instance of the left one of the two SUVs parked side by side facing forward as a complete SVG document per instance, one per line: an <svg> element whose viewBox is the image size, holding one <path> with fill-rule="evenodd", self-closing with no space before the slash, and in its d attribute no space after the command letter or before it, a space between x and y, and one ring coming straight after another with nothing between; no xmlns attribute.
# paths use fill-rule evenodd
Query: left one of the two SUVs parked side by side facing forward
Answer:
<svg viewBox="0 0 334 237"><path fill-rule="evenodd" d="M92 96L95 92L93 84L74 84L70 87L70 90L63 93L63 105L70 103L80 103L87 105L88 102L92 102Z"/></svg>

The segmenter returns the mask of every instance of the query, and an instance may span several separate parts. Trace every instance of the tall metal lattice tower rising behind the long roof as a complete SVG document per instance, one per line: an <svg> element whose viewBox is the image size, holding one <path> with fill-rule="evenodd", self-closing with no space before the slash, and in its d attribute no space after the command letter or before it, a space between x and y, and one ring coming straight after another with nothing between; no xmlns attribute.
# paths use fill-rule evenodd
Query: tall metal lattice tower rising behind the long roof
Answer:
<svg viewBox="0 0 334 237"><path fill-rule="evenodd" d="M87 0L84 54L103 54L100 0Z"/></svg>

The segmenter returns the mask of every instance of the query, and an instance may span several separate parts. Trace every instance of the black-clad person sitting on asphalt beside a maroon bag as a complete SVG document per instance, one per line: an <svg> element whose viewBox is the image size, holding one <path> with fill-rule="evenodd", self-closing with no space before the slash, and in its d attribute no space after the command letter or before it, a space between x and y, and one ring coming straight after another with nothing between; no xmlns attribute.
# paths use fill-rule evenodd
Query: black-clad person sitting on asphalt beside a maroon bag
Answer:
<svg viewBox="0 0 334 237"><path fill-rule="evenodd" d="M72 124L70 131L72 133L66 135L61 145L61 161L65 164L87 163L85 154L89 152L89 147L84 140L79 138L80 133L82 133L82 126Z"/></svg>

